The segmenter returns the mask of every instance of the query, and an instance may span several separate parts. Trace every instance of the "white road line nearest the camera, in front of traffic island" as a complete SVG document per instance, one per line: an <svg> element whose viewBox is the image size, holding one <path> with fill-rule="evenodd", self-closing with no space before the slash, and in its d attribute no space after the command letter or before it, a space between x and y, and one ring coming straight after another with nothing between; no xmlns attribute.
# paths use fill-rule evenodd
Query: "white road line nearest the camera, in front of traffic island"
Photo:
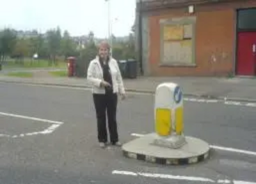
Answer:
<svg viewBox="0 0 256 184"><path fill-rule="evenodd" d="M147 178L161 178L170 180L183 180L183 181L202 181L208 183L235 183L235 184L256 184L251 181L237 181L237 180L212 180L211 178L202 178L198 176L175 176L172 174L156 174L156 173L135 173L131 171L112 171L112 174L128 175L128 176L143 176Z"/></svg>

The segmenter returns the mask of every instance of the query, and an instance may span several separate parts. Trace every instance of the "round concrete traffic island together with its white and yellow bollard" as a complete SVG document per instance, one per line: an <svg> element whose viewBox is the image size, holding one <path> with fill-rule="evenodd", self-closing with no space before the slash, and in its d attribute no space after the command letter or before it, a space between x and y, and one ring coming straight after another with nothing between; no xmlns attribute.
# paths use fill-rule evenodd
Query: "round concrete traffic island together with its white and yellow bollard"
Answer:
<svg viewBox="0 0 256 184"><path fill-rule="evenodd" d="M205 141L184 136L182 90L175 83L156 89L154 120L156 133L147 134L122 146L125 157L156 164L185 165L209 158Z"/></svg>

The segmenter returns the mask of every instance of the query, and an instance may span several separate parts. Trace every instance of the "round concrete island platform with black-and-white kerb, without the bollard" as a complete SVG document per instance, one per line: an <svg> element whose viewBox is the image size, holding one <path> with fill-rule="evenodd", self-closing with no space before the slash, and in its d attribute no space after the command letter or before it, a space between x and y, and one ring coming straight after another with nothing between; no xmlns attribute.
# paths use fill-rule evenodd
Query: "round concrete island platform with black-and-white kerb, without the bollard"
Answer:
<svg viewBox="0 0 256 184"><path fill-rule="evenodd" d="M147 134L123 145L125 157L166 165L195 164L209 157L209 145L201 139L186 137L186 145L179 149L159 147L152 142L157 134Z"/></svg>

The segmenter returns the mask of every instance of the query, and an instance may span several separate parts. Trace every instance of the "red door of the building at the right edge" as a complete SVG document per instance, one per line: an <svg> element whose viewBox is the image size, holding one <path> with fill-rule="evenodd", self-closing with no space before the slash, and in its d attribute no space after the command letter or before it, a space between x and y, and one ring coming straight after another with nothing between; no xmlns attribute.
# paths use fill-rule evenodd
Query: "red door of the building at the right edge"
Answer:
<svg viewBox="0 0 256 184"><path fill-rule="evenodd" d="M256 32L239 32L237 45L236 74L241 76L254 76L256 66Z"/></svg>

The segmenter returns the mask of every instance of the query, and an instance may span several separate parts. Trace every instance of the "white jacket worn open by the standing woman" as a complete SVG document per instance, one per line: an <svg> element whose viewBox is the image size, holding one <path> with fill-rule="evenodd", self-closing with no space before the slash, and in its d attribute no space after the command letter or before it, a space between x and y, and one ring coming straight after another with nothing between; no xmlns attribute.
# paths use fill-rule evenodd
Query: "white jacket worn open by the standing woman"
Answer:
<svg viewBox="0 0 256 184"><path fill-rule="evenodd" d="M120 73L119 66L115 59L109 59L109 69L112 77L113 92L125 94L124 83ZM92 92L95 94L105 94L105 88L100 87L100 82L104 80L102 67L100 66L99 57L90 61L87 69L87 81L92 85Z"/></svg>

